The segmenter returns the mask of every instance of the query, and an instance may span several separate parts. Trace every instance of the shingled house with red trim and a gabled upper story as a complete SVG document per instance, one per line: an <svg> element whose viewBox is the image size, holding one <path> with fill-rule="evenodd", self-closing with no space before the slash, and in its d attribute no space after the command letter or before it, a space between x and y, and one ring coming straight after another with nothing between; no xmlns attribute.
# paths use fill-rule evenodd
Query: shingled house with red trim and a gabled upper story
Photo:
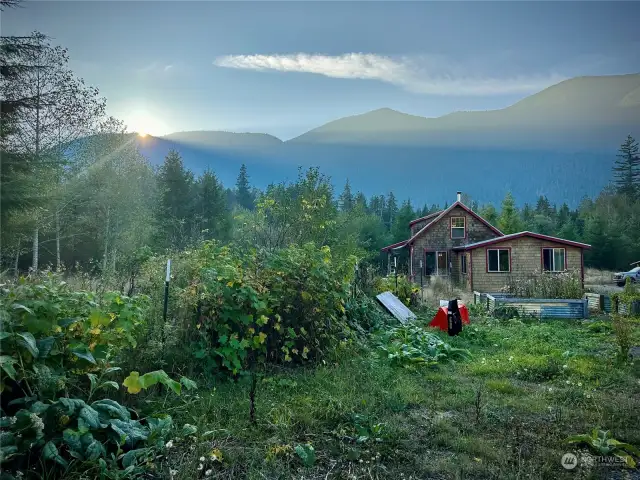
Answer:
<svg viewBox="0 0 640 480"><path fill-rule="evenodd" d="M584 283L590 245L528 231L505 235L460 197L458 192L449 208L412 220L409 239L382 249L388 265L404 252L411 280L419 282L422 272L423 278L446 277L480 292L497 292L541 272L579 271Z"/></svg>

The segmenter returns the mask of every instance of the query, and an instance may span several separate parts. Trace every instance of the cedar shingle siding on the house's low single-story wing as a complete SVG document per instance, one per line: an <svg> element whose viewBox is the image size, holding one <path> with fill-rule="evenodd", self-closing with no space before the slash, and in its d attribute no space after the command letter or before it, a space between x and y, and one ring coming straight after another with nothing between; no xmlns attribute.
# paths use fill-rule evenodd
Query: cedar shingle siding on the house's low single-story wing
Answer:
<svg viewBox="0 0 640 480"><path fill-rule="evenodd" d="M473 289L479 292L495 293L516 278L526 279L542 270L542 248L564 248L567 270L581 271L582 249L561 243L531 237L476 248L469 253L473 256ZM487 250L494 248L511 249L511 272L487 272Z"/></svg>

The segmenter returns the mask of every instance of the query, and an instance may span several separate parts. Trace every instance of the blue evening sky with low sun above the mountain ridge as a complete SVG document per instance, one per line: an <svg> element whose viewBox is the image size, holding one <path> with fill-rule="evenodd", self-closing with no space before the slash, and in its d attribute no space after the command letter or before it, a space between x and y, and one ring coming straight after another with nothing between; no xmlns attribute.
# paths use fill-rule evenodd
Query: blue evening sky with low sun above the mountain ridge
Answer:
<svg viewBox="0 0 640 480"><path fill-rule="evenodd" d="M69 50L131 131L284 140L388 107L509 106L566 78L640 72L640 2L26 1L3 35Z"/></svg>

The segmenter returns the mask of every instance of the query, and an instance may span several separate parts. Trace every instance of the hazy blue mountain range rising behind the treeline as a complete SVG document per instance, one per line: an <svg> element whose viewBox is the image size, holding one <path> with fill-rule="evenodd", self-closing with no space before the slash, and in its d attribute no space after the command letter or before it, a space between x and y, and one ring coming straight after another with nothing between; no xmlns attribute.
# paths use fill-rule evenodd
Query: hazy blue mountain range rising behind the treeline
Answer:
<svg viewBox="0 0 640 480"><path fill-rule="evenodd" d="M629 134L640 137L640 74L569 79L500 110L425 118L381 108L288 141L193 131L138 143L153 164L177 150L194 173L211 168L226 186L242 163L259 188L317 166L337 191L348 178L354 191L393 191L416 205L450 203L458 190L499 203L510 190L520 204L546 195L575 206L610 181Z"/></svg>

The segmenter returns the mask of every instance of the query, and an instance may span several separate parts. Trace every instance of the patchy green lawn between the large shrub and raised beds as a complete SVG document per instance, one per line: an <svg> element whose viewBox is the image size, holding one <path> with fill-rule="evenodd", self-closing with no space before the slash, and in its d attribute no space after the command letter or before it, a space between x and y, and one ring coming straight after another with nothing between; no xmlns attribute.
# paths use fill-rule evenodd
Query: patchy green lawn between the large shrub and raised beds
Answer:
<svg viewBox="0 0 640 480"><path fill-rule="evenodd" d="M258 380L255 425L249 421L245 383L202 387L180 403L163 400L176 424L192 424L198 432L190 439L178 435L158 464L161 475L176 480L628 475L629 469L614 473L613 467L568 471L560 462L576 450L564 443L568 436L596 427L640 446L640 362L616 360L608 320L472 318L458 337L439 335L468 349L472 359L392 366L373 335L343 342L315 368L265 371ZM632 335L632 344L640 344L637 325ZM150 410L159 410L157 399L147 402ZM311 456L306 444L313 447ZM634 474L629 478L637 478L638 470Z"/></svg>

